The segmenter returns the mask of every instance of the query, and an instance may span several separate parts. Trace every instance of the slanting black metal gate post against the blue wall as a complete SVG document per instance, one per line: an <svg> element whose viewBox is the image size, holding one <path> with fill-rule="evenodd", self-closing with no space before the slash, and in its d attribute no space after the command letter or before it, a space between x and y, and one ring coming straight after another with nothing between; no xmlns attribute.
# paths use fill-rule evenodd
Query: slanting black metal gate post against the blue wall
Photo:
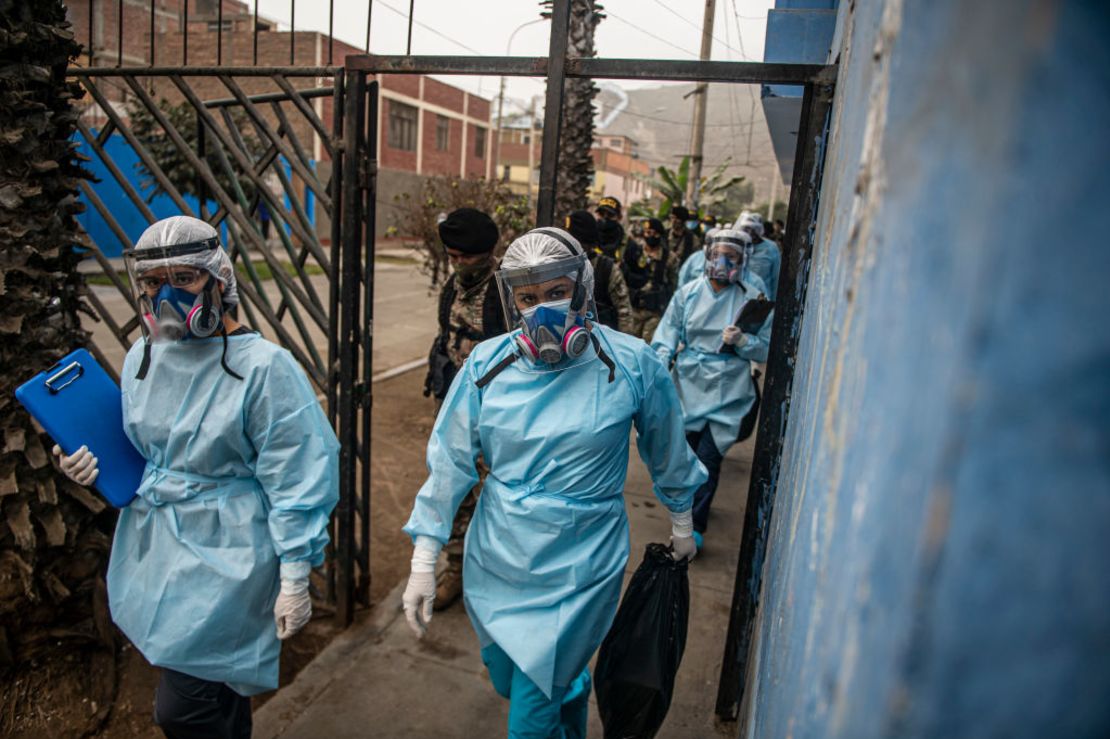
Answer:
<svg viewBox="0 0 1110 739"><path fill-rule="evenodd" d="M744 533L740 536L728 636L717 687L717 716L727 721L736 720L745 698L747 679L755 668L749 662L753 630L790 414L790 391L808 292L834 79L828 75L820 82L806 84L801 104L783 272L778 281L759 431L744 509Z"/></svg>

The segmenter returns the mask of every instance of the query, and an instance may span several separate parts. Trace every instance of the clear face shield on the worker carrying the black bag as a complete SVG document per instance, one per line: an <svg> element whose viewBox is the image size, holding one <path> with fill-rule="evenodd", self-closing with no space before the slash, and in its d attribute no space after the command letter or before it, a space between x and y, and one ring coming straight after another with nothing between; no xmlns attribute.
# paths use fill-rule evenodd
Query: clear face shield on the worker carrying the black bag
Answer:
<svg viewBox="0 0 1110 739"><path fill-rule="evenodd" d="M585 254L534 266L498 270L497 290L521 354L554 368L591 345L587 321L597 315ZM558 368L563 368L559 366Z"/></svg>

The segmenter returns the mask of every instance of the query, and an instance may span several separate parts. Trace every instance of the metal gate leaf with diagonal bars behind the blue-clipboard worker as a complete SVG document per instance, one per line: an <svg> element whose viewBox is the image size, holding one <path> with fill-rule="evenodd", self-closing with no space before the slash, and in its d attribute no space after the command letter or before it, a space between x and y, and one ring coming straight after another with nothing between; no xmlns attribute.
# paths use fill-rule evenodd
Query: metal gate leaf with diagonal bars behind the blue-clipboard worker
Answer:
<svg viewBox="0 0 1110 739"><path fill-rule="evenodd" d="M334 68L72 68L87 93L78 143L100 173L82 182L88 293L102 327L90 350L113 357L139 337L127 277L108 256L170 214L208 221L239 281L238 318L287 348L337 423L340 504L327 598L341 621L370 601L370 325L373 259L362 194L373 169L359 136L366 90ZM346 104L350 102L351 104ZM355 162L355 151L362 161ZM137 172L138 169L138 172ZM346 176L344 176L346 173ZM372 212L370 213L372 217Z"/></svg>

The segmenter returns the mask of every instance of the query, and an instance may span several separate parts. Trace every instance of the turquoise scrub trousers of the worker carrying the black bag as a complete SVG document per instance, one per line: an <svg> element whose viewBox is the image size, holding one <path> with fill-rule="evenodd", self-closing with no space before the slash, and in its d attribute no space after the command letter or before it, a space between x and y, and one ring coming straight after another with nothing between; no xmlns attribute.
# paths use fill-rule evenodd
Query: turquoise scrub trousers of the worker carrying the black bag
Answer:
<svg viewBox="0 0 1110 739"><path fill-rule="evenodd" d="M496 644L482 650L482 661L494 690L508 698L508 739L585 739L589 668L548 698Z"/></svg>

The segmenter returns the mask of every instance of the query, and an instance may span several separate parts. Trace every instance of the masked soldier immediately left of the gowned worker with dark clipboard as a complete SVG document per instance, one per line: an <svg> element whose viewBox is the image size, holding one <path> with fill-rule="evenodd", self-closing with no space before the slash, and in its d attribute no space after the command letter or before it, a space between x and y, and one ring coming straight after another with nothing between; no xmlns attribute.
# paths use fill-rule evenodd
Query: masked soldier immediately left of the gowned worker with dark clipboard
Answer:
<svg viewBox="0 0 1110 739"><path fill-rule="evenodd" d="M628 333L645 342L652 341L678 285L678 257L664 239L663 223L648 219L643 243L629 239L620 259L620 270L632 297L633 322Z"/></svg>

